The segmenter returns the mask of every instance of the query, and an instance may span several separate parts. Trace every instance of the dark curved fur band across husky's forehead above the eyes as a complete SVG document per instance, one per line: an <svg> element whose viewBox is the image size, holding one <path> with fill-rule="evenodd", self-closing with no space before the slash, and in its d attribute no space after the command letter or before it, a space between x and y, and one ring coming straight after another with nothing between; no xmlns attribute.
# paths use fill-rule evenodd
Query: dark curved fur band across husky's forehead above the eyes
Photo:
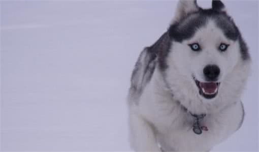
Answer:
<svg viewBox="0 0 259 152"><path fill-rule="evenodd" d="M181 22L172 24L168 29L169 36L177 42L182 42L191 38L197 29L206 25L209 19L216 22L216 25L227 38L237 40L240 33L231 17L226 15L225 12L218 12L213 9L200 9L199 12L187 16Z"/></svg>

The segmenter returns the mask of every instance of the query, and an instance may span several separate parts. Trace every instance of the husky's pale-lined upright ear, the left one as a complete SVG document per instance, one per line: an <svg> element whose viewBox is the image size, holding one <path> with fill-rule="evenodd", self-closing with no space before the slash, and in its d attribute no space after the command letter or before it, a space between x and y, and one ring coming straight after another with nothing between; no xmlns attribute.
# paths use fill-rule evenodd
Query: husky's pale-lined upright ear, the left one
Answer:
<svg viewBox="0 0 259 152"><path fill-rule="evenodd" d="M196 0L180 0L177 4L173 22L179 21L188 14L199 11L199 9Z"/></svg>

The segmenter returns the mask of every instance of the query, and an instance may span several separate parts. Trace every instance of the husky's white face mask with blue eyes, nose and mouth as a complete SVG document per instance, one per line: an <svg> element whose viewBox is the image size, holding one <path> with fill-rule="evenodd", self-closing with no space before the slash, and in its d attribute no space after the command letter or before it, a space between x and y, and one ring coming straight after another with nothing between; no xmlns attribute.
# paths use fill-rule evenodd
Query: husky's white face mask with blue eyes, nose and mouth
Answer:
<svg viewBox="0 0 259 152"><path fill-rule="evenodd" d="M169 65L175 65L183 77L191 79L203 98L212 99L241 56L237 53L239 43L227 38L215 21L207 22L190 39L173 42Z"/></svg>

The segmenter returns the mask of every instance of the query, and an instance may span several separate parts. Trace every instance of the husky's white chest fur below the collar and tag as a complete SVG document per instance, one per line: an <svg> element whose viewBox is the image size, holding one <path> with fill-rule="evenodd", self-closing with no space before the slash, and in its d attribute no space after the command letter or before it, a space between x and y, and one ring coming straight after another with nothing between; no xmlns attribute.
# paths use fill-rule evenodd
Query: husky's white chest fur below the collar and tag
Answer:
<svg viewBox="0 0 259 152"><path fill-rule="evenodd" d="M192 131L195 118L170 93L155 88L155 80L152 81L133 109L153 126L156 140L164 150L210 150L238 129L243 116L241 102L226 105L217 112L208 111L201 121L201 126L206 126L208 131L195 134Z"/></svg>

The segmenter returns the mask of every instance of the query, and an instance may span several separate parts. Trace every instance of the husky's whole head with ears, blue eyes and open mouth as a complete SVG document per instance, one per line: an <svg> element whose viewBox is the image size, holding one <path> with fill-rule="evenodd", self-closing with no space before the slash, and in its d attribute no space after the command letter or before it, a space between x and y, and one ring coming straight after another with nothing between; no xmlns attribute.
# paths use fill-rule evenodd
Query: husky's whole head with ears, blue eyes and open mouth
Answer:
<svg viewBox="0 0 259 152"><path fill-rule="evenodd" d="M221 86L233 83L229 77L241 68L239 63L250 59L221 1L212 1L211 9L200 8L196 1L179 1L168 34L171 48L159 56L166 82L174 91L181 89L202 101L216 99L225 91Z"/></svg>

